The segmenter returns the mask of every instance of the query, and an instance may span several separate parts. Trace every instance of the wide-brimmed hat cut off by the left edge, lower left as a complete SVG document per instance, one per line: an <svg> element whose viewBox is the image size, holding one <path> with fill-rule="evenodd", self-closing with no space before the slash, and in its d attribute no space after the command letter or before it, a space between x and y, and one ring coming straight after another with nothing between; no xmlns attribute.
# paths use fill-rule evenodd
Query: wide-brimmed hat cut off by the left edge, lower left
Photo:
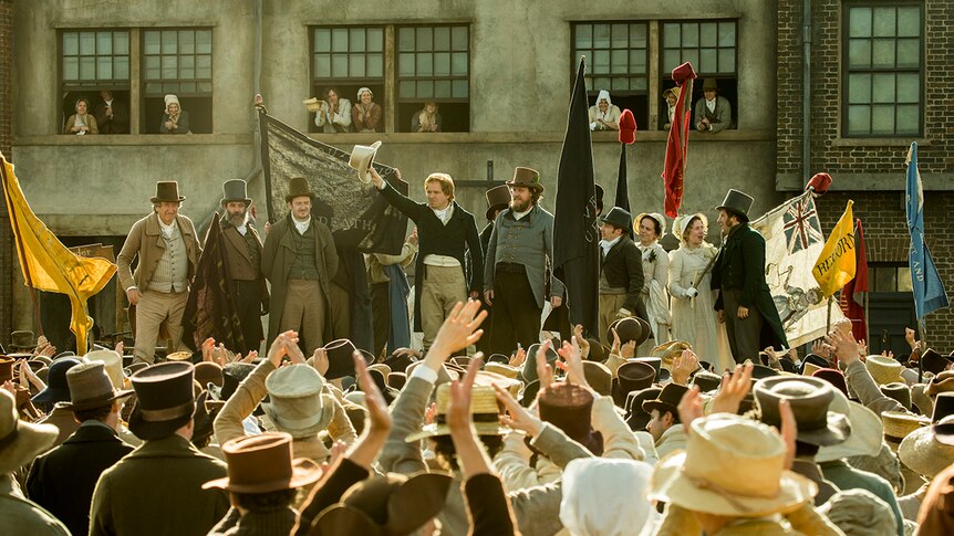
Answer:
<svg viewBox="0 0 954 536"><path fill-rule="evenodd" d="M52 424L21 421L17 399L0 389L0 475L32 462L38 454L53 446L59 433Z"/></svg>

